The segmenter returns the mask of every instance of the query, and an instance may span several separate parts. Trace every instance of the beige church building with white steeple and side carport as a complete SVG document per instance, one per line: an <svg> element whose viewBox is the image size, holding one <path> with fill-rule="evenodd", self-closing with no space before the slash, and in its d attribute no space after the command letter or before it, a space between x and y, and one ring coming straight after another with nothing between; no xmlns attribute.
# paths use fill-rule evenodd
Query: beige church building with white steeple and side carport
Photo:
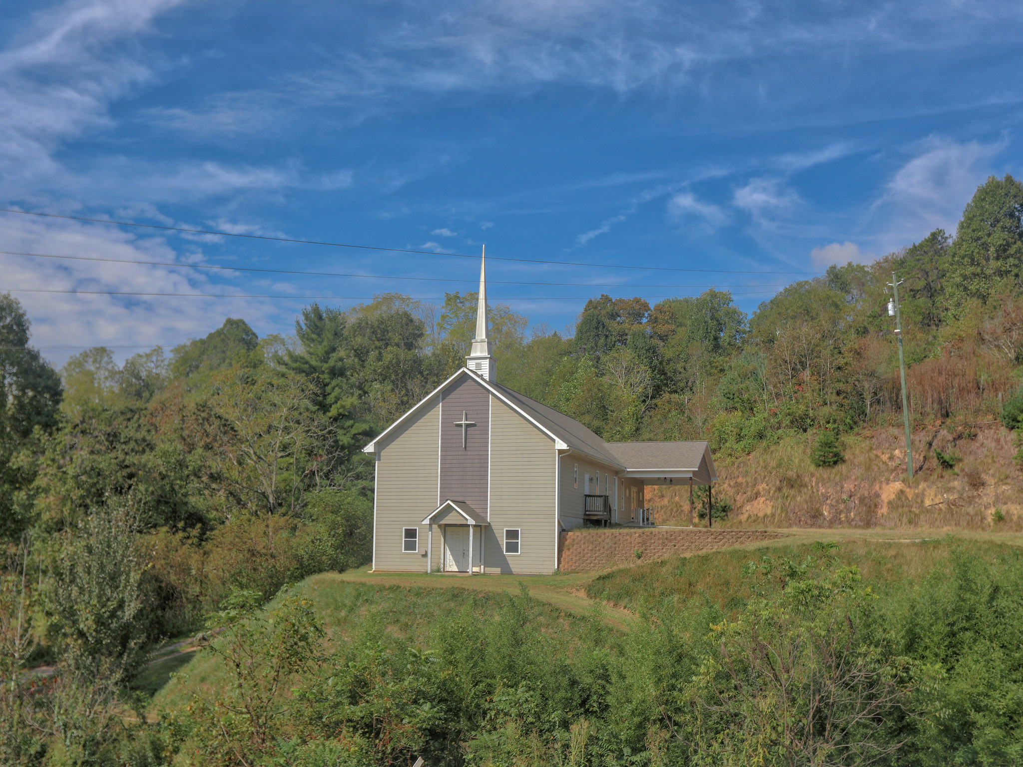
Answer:
<svg viewBox="0 0 1023 767"><path fill-rule="evenodd" d="M465 366L363 448L374 571L550 574L563 530L648 525L644 486L717 479L706 442L605 442L501 386L491 351L484 262Z"/></svg>

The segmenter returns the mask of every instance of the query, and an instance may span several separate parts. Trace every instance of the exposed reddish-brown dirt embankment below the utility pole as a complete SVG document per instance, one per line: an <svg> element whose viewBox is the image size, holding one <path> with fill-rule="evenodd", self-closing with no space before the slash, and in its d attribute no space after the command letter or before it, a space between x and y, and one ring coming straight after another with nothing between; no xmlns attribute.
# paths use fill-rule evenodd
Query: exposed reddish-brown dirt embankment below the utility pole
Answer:
<svg viewBox="0 0 1023 767"><path fill-rule="evenodd" d="M810 437L793 438L719 461L714 490L732 503L727 526L1023 529L1023 471L1000 424L919 430L911 484L900 428L845 437L845 461L831 468L810 464L809 446ZM685 491L651 488L648 503L659 524L687 524Z"/></svg>

